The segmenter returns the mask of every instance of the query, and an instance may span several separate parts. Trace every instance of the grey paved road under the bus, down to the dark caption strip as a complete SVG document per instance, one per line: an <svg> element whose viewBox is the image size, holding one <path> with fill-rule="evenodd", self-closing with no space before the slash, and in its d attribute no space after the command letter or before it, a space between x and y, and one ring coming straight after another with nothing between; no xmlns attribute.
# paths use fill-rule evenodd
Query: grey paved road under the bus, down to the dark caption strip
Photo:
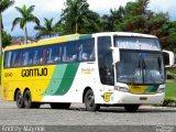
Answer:
<svg viewBox="0 0 176 132"><path fill-rule="evenodd" d="M123 108L101 108L88 112L84 105L69 110L54 110L48 105L40 109L18 109L15 102L0 100L0 125L176 125L176 108L142 106L135 113Z"/></svg>

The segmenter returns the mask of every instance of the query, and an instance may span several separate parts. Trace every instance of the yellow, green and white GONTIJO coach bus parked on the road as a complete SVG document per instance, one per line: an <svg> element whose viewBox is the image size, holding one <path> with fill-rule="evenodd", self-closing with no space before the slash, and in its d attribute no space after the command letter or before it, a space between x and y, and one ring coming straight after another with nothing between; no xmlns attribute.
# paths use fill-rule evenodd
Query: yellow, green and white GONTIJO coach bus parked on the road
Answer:
<svg viewBox="0 0 176 132"><path fill-rule="evenodd" d="M8 46L3 53L2 99L18 108L87 111L162 105L165 97L163 52L153 35L105 32L72 34L33 44Z"/></svg>

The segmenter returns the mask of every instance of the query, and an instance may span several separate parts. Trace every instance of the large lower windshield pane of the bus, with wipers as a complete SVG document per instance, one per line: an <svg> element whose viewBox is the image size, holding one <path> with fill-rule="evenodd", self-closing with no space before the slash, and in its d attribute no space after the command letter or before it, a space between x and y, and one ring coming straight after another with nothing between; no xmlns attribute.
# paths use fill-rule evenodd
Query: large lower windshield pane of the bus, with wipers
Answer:
<svg viewBox="0 0 176 132"><path fill-rule="evenodd" d="M117 77L127 84L164 84L162 54L121 51Z"/></svg>

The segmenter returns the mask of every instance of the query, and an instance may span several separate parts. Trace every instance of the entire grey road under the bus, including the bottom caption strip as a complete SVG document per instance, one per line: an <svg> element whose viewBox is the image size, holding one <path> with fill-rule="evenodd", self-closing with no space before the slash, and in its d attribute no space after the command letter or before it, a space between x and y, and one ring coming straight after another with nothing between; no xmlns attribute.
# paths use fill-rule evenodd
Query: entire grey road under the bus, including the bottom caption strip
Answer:
<svg viewBox="0 0 176 132"><path fill-rule="evenodd" d="M19 125L22 127L19 128ZM37 131L26 131L24 125L38 125L38 128ZM176 108L142 106L134 113L129 113L123 108L101 108L98 112L88 112L80 103L72 105L69 110L54 110L48 105L41 106L40 109L18 109L15 102L0 99L0 132L7 132L8 129L10 129L8 132L23 132L24 130L24 132L43 132L42 129L45 130L44 132L64 132L66 129L67 132L117 130L156 132L157 129L157 132L163 132L163 130L175 132Z"/></svg>

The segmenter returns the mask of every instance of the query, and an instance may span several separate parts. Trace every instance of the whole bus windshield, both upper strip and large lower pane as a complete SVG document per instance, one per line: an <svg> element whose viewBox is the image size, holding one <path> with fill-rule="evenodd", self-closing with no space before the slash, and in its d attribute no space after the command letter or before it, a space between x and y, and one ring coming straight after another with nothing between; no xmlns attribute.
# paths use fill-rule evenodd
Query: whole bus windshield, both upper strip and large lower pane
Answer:
<svg viewBox="0 0 176 132"><path fill-rule="evenodd" d="M147 46L147 38L138 38L139 42L134 37L133 40L125 38L127 42L124 42L124 37L122 40L123 44L129 44L131 50L124 50L122 43L120 46L120 42L116 41L116 46L120 47L120 63L117 64L117 81L139 85L164 84L164 64L158 43L148 38L150 46ZM140 41L141 44L145 43L144 46L147 51L136 50ZM135 43L135 46L131 45L133 43ZM155 52L152 51L152 47ZM143 45L140 48L143 48Z"/></svg>

